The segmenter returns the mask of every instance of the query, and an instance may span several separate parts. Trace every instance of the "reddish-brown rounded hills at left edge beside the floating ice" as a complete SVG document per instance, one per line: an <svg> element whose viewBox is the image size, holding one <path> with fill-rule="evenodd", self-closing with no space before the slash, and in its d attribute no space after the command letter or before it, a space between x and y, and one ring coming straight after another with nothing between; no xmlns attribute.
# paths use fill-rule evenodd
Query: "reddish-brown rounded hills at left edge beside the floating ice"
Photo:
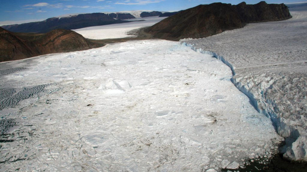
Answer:
<svg viewBox="0 0 307 172"><path fill-rule="evenodd" d="M56 29L46 34L25 34L0 27L0 62L95 47L98 46L71 30Z"/></svg>

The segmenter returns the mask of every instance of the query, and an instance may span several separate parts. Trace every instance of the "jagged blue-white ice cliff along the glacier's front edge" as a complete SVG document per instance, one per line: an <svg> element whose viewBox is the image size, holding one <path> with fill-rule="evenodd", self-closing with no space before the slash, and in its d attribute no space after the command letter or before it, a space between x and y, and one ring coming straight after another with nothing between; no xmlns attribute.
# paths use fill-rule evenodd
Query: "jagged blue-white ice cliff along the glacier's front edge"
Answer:
<svg viewBox="0 0 307 172"><path fill-rule="evenodd" d="M221 60L224 64L230 67L232 76L235 76L235 70L233 66L223 58L223 56L220 56L216 54L215 52L211 52L208 50L204 50L202 48L198 48L193 46L192 44L188 44L185 42L181 42L181 44L191 47L192 50L196 52L200 52L202 54L209 54L212 55L213 57ZM266 115L268 118L271 119L276 132L282 136L285 137L286 139L286 145L280 148L280 153L284 153L284 157L291 159L291 160L301 160L301 159L306 159L306 149L305 144L303 144L306 140L306 136L303 134L300 134L300 132L297 129L294 129L292 126L286 124L284 122L283 118L280 118L278 114L274 112L274 110L270 109L269 107L266 107L264 109L260 109L258 107L258 103L260 103L261 100L258 100L255 98L255 95L246 88L246 86L238 82L234 77L231 78L231 82L235 85L236 88L238 88L241 92L243 92L247 97L251 100L252 105L255 107L255 109L261 113ZM262 97L263 92L261 92ZM274 100L266 100L267 104L271 104L275 106Z"/></svg>

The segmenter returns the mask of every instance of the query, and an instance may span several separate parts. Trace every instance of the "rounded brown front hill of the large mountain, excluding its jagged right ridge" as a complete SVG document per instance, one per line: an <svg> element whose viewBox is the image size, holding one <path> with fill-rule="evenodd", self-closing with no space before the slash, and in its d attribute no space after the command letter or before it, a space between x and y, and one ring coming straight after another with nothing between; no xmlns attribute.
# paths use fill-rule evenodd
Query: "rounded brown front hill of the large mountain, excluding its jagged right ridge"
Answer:
<svg viewBox="0 0 307 172"><path fill-rule="evenodd" d="M231 5L219 2L183 10L146 28L145 32L155 38L179 40L211 36L241 26L239 15Z"/></svg>

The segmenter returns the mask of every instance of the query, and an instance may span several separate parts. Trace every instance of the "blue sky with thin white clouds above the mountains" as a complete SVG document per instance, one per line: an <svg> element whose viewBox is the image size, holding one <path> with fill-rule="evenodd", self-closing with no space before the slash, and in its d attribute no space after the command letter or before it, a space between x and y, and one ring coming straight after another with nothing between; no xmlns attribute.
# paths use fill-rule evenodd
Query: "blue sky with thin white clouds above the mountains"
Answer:
<svg viewBox="0 0 307 172"><path fill-rule="evenodd" d="M243 0L0 0L0 21L40 20L71 13L118 12L125 10L178 11L199 4L231 3ZM303 0L304 1L304 0ZM247 0L255 4L260 0ZM302 2L268 0L267 3ZM1 26L0 22L0 26Z"/></svg>

